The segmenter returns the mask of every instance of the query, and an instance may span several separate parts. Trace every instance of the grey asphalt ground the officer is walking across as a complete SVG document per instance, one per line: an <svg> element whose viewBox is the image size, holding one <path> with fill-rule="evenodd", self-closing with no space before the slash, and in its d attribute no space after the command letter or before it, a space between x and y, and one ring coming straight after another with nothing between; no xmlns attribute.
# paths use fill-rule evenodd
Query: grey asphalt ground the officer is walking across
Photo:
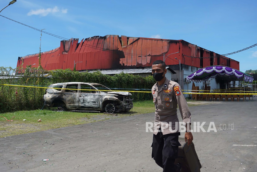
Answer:
<svg viewBox="0 0 257 172"><path fill-rule="evenodd" d="M201 171L256 172L256 103L190 107L192 122L206 122L205 130L214 122L217 129L193 133ZM146 132L153 121L150 113L0 138L0 172L161 172L151 159L153 134ZM233 130L224 128L232 123Z"/></svg>

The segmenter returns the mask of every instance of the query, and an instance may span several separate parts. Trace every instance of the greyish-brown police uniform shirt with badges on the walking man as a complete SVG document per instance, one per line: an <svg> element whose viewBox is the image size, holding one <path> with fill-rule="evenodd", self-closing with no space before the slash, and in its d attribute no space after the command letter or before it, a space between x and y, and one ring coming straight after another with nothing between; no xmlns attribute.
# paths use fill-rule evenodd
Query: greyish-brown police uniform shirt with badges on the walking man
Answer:
<svg viewBox="0 0 257 172"><path fill-rule="evenodd" d="M179 127L177 106L179 107L183 122L191 123L191 113L178 83L166 78L162 87L158 87L157 83L152 87L152 95L153 102L155 103L155 126L161 126L163 135L179 132L178 130L174 131L175 128ZM170 122L172 125L170 125ZM166 123L168 123L168 128L162 127ZM176 124L177 126L175 126ZM157 133L158 131L154 131L155 135Z"/></svg>

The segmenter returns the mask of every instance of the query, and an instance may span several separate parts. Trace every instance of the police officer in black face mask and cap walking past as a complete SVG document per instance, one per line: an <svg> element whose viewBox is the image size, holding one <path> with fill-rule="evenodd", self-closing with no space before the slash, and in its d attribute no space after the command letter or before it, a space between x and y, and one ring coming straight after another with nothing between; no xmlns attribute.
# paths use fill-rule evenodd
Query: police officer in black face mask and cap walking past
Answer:
<svg viewBox="0 0 257 172"><path fill-rule="evenodd" d="M186 128L191 124L191 114L178 83L165 78L166 64L157 60L152 65L152 75L157 83L152 87L153 101L155 103L155 127L152 144L152 158L163 172L176 172L181 170L180 164L174 164L178 157L178 131L177 105ZM171 122L171 123L170 123ZM177 123L176 123L177 122ZM166 126L168 125L168 126ZM177 125L177 126L176 126ZM185 141L192 143L193 135L185 132Z"/></svg>

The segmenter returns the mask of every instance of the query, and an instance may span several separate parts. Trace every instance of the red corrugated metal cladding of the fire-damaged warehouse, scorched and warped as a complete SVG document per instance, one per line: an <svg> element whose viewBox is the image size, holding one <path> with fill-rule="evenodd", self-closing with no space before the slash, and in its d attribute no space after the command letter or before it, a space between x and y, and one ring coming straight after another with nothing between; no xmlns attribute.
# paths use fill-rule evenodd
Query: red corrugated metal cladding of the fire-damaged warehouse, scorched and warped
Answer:
<svg viewBox="0 0 257 172"><path fill-rule="evenodd" d="M205 58L217 55L214 52L190 44L183 40L168 40L142 37L126 37L118 35L95 36L82 39L61 41L60 47L41 53L41 66L46 70L73 69L119 69L129 67L151 67L155 60L163 60L163 54L169 55L167 65L181 64L200 67L200 58L203 57L203 67L211 65L230 66L239 70L239 62L221 56L213 59ZM201 53L202 52L202 53ZM165 56L166 57L166 56ZM38 54L27 55L18 59L17 67L38 64ZM219 63L219 64L218 64Z"/></svg>

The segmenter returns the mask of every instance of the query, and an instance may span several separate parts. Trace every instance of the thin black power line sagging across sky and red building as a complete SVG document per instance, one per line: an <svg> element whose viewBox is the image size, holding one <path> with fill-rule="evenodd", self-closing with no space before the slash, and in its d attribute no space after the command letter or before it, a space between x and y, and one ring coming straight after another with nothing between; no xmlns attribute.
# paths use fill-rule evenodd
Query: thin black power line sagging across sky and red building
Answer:
<svg viewBox="0 0 257 172"><path fill-rule="evenodd" d="M64 38L64 37L61 37L61 36L58 36L58 35L55 35L55 34L46 32L46 31L41 31L40 29L34 28L34 27L29 26L29 25L27 25L27 24L23 24L23 23L21 23L21 22L18 22L18 21L16 21L16 20L10 19L10 18L5 17L5 16L3 16L3 15L0 15L0 16L4 17L4 18L6 18L6 19L9 19L9 20L11 20L11 21L14 21L14 22L16 22L16 23L18 23L18 24L22 24L22 25L24 25L24 26L27 26L27 27L32 28L32 29L34 29L34 30L37 30L37 31L39 31L39 32L46 33L46 34L48 34L48 35L50 35L50 36L57 37L57 38L59 38L59 39L65 40L65 41L71 41L71 42L72 42L72 40L70 40L70 39L68 39L68 38ZM101 47L98 47L98 46L86 44L86 43L84 43L84 42L83 42L83 44L81 45L81 47L82 47L82 46L86 46L86 47L89 47L89 48L98 49L98 50L101 50L101 51L109 51L109 52L113 52L113 51L115 51L115 50L118 50L118 49L113 49L113 50L104 49L104 48L101 48ZM184 55L184 54L183 54L183 56L192 57L192 58L215 58L215 57L220 57L220 56L227 56L227 55L231 55L231 54L236 54L236 53L245 51L245 50L247 50L247 49L253 48L253 47L255 47L255 46L257 46L257 44L251 45L251 46L249 46L249 47L246 47L246 48L244 48L244 49L241 49L241 50L238 50L238 51L235 51L235 52L232 52L232 53L221 54L221 55L210 56L210 57L194 57L194 56L187 56L187 55ZM133 53L125 53L125 52L123 52L123 54L126 54L126 55L138 55L138 56L141 56L141 57L142 57L142 56L145 56L145 57L151 56L150 54L144 55L144 54L133 54Z"/></svg>

